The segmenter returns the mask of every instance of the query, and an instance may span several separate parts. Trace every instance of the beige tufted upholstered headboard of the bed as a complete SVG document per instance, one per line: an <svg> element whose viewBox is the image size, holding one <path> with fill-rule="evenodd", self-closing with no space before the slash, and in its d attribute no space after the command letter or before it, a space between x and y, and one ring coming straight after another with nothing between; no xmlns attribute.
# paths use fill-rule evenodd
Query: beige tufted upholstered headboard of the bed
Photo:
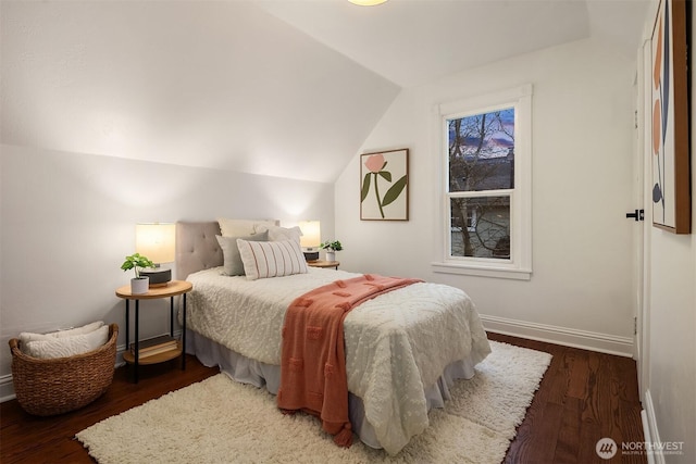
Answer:
<svg viewBox="0 0 696 464"><path fill-rule="evenodd" d="M185 280L189 274L223 265L217 243L220 224L216 221L176 223L176 278Z"/></svg>

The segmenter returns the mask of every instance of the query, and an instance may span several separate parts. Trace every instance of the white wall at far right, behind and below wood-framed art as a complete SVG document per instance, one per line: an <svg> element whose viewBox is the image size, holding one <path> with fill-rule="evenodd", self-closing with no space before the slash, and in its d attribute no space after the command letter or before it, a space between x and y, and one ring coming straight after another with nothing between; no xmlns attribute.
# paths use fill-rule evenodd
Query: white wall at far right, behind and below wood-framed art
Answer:
<svg viewBox="0 0 696 464"><path fill-rule="evenodd" d="M647 18L647 30L652 17ZM692 37L691 50L694 47L696 41ZM681 454L663 456L670 463L696 461L696 73L693 72L691 88L692 234L678 236L655 227L648 231L649 300L645 334L648 364L643 366L647 375L641 394L652 440L683 442ZM646 221L650 221L650 211L646 212Z"/></svg>

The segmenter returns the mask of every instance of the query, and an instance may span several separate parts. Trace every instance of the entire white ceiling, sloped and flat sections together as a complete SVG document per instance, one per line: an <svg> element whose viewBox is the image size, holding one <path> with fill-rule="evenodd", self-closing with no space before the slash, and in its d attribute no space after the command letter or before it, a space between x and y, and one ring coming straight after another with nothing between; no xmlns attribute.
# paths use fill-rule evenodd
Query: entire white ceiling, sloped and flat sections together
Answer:
<svg viewBox="0 0 696 464"><path fill-rule="evenodd" d="M646 4L3 0L0 137L333 181L402 87L591 34L634 57Z"/></svg>

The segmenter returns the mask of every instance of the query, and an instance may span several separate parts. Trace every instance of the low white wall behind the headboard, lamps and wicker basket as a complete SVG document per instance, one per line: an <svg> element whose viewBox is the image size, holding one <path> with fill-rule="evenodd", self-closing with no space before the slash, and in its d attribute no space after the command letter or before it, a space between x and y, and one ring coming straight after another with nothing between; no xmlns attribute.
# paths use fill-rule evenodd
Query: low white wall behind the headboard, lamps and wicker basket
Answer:
<svg viewBox="0 0 696 464"><path fill-rule="evenodd" d="M1 146L0 343L103 319L124 324L114 290L138 222L321 220L333 235L333 186L110 156ZM147 311L148 308L161 311ZM141 334L169 330L169 303L145 302ZM122 330L119 342L125 343ZM10 350L0 350L0 398Z"/></svg>

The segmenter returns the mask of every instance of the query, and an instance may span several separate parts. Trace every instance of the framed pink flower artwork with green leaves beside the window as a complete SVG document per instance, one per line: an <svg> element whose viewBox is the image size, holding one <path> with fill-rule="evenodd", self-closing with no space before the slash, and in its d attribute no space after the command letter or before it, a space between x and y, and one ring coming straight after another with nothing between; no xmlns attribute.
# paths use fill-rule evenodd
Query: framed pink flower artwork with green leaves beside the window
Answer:
<svg viewBox="0 0 696 464"><path fill-rule="evenodd" d="M360 155L360 220L409 220L409 150Z"/></svg>

